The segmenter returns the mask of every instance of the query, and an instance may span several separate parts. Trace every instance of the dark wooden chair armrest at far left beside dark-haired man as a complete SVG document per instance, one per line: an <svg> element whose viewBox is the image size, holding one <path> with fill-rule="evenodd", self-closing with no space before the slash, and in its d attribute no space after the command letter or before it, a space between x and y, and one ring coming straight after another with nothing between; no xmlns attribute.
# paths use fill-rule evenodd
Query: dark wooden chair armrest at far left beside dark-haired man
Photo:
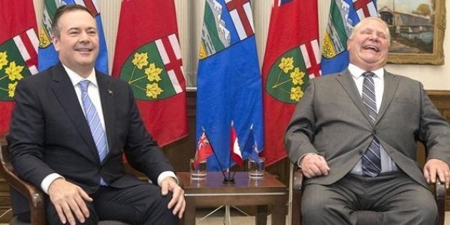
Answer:
<svg viewBox="0 0 450 225"><path fill-rule="evenodd" d="M44 193L40 189L36 189L35 186L29 184L28 182L22 180L17 176L11 165L11 156L9 154L9 148L6 141L0 141L1 151L0 151L0 161L1 175L9 185L19 191L22 195L26 197L29 202L29 207L31 211L31 222L34 225L45 224L45 200Z"/></svg>

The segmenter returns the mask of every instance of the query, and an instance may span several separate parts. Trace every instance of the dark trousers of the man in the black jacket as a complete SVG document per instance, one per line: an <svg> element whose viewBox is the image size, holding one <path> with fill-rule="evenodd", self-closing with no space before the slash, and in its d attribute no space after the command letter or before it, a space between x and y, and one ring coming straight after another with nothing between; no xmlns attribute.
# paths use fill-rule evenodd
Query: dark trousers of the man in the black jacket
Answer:
<svg viewBox="0 0 450 225"><path fill-rule="evenodd" d="M99 220L116 220L128 224L178 224L178 218L167 205L171 193L161 195L161 188L143 183L124 189L102 186L91 194L86 203L90 216L84 224L97 224ZM47 202L47 224L61 224L54 205ZM77 222L79 224L79 222Z"/></svg>

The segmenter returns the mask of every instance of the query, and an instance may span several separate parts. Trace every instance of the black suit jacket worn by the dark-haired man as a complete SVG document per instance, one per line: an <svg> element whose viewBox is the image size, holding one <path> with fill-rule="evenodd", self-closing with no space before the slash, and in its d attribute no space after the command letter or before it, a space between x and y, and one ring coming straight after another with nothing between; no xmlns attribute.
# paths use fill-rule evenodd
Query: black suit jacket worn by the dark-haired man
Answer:
<svg viewBox="0 0 450 225"><path fill-rule="evenodd" d="M174 171L146 131L130 86L97 70L96 79L109 146L102 163L61 63L19 82L7 139L12 164L21 178L40 187L46 176L58 173L88 194L99 188L100 177L116 188L139 184L135 176L125 173L122 152L154 184L161 172Z"/></svg>

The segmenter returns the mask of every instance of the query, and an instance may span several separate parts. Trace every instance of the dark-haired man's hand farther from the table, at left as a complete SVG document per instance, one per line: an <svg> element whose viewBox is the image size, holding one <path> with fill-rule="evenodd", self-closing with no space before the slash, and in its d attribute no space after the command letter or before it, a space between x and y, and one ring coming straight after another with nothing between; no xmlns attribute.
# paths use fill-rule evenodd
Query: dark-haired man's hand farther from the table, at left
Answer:
<svg viewBox="0 0 450 225"><path fill-rule="evenodd" d="M85 218L89 217L89 209L84 201L92 199L79 186L59 178L51 182L49 196L62 224L66 224L66 221L76 224L74 214L80 223L84 223Z"/></svg>

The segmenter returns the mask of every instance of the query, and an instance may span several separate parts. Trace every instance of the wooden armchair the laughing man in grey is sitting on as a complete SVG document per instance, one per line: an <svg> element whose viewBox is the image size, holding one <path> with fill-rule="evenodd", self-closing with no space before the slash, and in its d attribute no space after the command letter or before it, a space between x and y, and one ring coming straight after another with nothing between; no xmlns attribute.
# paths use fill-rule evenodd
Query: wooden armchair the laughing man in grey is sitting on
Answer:
<svg viewBox="0 0 450 225"><path fill-rule="evenodd" d="M290 180L289 180L289 201L291 206L289 206L289 211L291 212L292 225L301 224L301 194L302 194L302 183L303 174L301 169L299 169L294 164L291 164ZM436 204L438 206L439 221L438 225L444 225L445 219L445 199L446 199L446 189L444 184L439 181L436 185L433 185L434 198L436 199ZM356 217L358 218L358 224L372 225L374 224L376 218L375 211L357 211ZM374 224L376 225L376 224Z"/></svg>

